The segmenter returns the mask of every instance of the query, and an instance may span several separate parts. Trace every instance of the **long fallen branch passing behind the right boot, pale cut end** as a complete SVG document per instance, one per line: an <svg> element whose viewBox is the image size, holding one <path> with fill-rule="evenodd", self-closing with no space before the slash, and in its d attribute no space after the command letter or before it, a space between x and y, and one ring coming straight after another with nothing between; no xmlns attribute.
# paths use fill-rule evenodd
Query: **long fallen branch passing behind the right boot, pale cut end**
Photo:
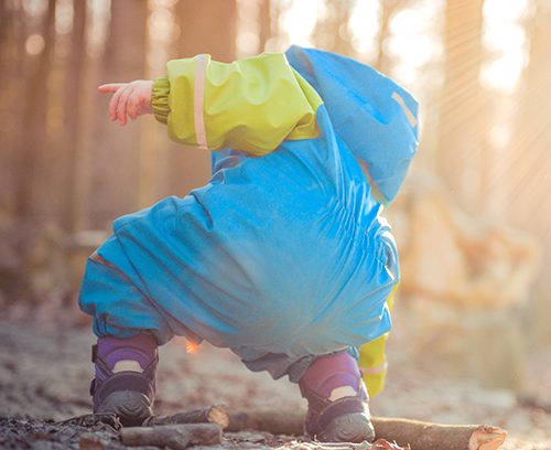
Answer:
<svg viewBox="0 0 551 450"><path fill-rule="evenodd" d="M302 435L302 411L229 410L227 431L262 430L274 435ZM396 441L411 450L496 450L507 431L485 425L439 425L409 419L372 417L378 439Z"/></svg>

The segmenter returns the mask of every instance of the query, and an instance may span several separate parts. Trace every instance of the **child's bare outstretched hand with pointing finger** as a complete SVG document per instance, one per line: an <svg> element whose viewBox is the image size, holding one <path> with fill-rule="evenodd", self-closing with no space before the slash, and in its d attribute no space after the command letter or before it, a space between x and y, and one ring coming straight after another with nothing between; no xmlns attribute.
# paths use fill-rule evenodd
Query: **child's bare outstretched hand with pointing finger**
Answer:
<svg viewBox="0 0 551 450"><path fill-rule="evenodd" d="M138 79L132 83L110 83L98 87L100 93L115 95L109 103L109 119L119 120L120 125L127 122L127 114L136 119L143 114L152 114L151 90L153 82Z"/></svg>

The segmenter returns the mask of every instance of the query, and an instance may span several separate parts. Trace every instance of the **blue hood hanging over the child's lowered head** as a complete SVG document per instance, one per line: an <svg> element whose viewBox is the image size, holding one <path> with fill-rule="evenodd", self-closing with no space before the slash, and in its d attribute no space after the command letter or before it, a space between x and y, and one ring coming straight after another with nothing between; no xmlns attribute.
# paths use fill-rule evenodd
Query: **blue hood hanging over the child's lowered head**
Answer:
<svg viewBox="0 0 551 450"><path fill-rule="evenodd" d="M377 200L391 202L418 147L415 99L348 57L294 45L285 55L323 98L336 136L367 171Z"/></svg>

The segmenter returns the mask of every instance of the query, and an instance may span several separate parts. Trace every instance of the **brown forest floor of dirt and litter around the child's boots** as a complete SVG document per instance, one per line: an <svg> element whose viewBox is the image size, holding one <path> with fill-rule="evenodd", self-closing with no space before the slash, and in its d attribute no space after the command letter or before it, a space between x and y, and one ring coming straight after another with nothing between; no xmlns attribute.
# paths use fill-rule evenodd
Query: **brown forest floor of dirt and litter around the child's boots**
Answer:
<svg viewBox="0 0 551 450"><path fill-rule="evenodd" d="M0 448L123 448L105 426L86 430L52 424L90 410L91 343L86 328L0 321ZM533 357L530 372L537 376L532 383L541 398L551 401L549 361L549 355ZM505 450L551 450L550 413L521 406L508 390L487 390L475 382L431 372L391 364L387 389L371 400L372 414L495 425L509 431ZM183 340L161 349L158 390L158 414L210 404L237 409L270 406L282 411L304 408L298 387L287 379L273 382L266 373L251 373L230 352L207 344L186 353ZM299 437L256 431L224 433L223 444L216 448L274 447L313 448L301 444Z"/></svg>

